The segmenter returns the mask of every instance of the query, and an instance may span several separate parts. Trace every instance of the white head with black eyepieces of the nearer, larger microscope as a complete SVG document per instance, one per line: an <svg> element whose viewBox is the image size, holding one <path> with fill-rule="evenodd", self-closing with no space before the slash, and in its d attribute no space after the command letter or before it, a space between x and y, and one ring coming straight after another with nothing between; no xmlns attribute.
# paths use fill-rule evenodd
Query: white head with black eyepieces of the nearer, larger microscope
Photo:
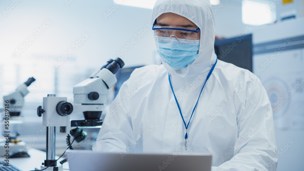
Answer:
<svg viewBox="0 0 304 171"><path fill-rule="evenodd" d="M114 74L123 66L123 60L120 58L110 59L90 78L74 86L74 112L83 112L85 119L71 121L71 127L75 127L76 124L80 127L101 127L103 121L100 116L103 104L107 103L108 89L116 84Z"/></svg>

